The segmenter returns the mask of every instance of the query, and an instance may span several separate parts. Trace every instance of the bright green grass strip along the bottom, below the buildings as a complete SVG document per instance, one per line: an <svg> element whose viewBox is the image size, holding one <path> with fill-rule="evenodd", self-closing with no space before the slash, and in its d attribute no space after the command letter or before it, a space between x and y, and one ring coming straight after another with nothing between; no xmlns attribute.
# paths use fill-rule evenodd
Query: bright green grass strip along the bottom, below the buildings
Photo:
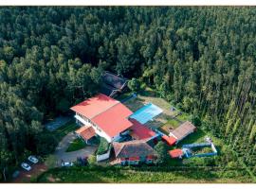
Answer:
<svg viewBox="0 0 256 189"><path fill-rule="evenodd" d="M251 182L246 171L222 168L109 167L57 168L41 175L37 182L69 183L229 183Z"/></svg>

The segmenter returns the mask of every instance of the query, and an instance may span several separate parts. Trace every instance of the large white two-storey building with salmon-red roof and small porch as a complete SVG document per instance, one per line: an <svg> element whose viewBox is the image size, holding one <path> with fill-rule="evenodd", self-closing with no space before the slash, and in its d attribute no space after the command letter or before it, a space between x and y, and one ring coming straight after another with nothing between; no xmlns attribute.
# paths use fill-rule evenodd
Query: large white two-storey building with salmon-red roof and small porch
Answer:
<svg viewBox="0 0 256 189"><path fill-rule="evenodd" d="M95 134L105 138L109 143L118 141L121 135L129 132L128 129L133 126L128 119L133 112L105 94L88 98L71 110L76 112L76 122L82 127L82 131L77 130L78 133L91 137L87 132L92 133L91 130L94 129ZM85 137L85 140L87 139L88 137Z"/></svg>

